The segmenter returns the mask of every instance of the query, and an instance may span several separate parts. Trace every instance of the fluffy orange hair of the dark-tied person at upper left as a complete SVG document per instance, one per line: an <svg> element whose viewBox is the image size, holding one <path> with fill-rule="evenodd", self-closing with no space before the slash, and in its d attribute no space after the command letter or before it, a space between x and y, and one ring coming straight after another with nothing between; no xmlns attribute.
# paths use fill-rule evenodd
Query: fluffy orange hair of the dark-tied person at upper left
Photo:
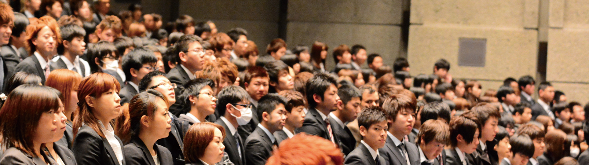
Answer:
<svg viewBox="0 0 589 165"><path fill-rule="evenodd" d="M25 37L25 47L29 51L29 55L32 55L37 48L33 44L33 39L37 39L37 35L39 31L44 27L49 27L53 34L55 34L55 42L61 43L61 35L59 35L59 28L57 27L57 22L51 16L43 16L39 18L37 21L31 21L31 24L27 26L27 37Z"/></svg>

